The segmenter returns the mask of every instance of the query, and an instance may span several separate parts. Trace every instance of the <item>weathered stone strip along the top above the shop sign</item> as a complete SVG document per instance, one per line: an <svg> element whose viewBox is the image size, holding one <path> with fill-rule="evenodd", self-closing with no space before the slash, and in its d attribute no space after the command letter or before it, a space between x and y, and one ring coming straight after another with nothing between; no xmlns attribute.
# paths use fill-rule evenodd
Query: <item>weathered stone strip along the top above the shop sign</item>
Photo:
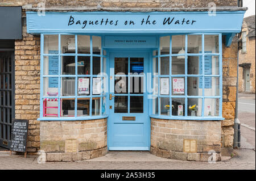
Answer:
<svg viewBox="0 0 256 181"><path fill-rule="evenodd" d="M31 7L38 7L38 3L46 3L46 7L110 7L110 8L196 8L208 7L208 3L215 3L216 6L237 6L237 0L2 0L0 6L22 6L31 5Z"/></svg>

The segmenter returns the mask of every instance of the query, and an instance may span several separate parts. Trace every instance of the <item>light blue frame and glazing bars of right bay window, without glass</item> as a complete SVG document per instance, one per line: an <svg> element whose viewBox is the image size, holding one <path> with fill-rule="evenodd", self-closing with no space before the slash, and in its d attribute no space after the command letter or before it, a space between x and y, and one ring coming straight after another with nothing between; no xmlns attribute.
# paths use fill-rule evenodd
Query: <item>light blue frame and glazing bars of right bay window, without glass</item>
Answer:
<svg viewBox="0 0 256 181"><path fill-rule="evenodd" d="M179 34L179 35L185 35L185 54L172 54L172 35L174 34L169 34L169 35L163 35L163 36L170 36L170 54L160 54L160 37L163 37L162 35L159 36L159 41L158 41L158 54L156 56L152 56L153 58L158 58L158 73L155 75L152 75L152 79L154 77L158 78L158 94L153 95L152 98L154 97L158 99L158 113L153 114L153 104L152 104L152 99L150 101L150 110L151 110L151 115L150 117L158 118L158 119L175 119L175 120L224 120L222 117L222 33L184 33L184 34ZM202 50L201 53L187 53L188 52L188 35L201 35L202 37ZM218 53L206 53L204 51L204 36L205 35L218 35ZM219 74L217 75L205 75L205 69L202 69L203 73L202 74L188 74L188 56L202 56L202 67L204 68L204 57L205 56L218 56L218 71ZM185 74L182 75L172 75L172 56L185 56ZM169 67L169 75L160 75L160 57L169 57L170 60L170 67ZM153 72L152 66L151 70ZM169 90L170 94L169 95L160 95L160 78L166 77L169 78ZM185 94L184 95L172 95L171 94L171 88L172 88L172 77L184 77L184 85L185 85ZM201 96L188 96L187 95L187 78L188 77L202 77L203 78L203 95ZM205 96L205 77L218 77L219 78L219 96ZM153 83L153 81L152 81ZM152 84L152 86L154 86ZM160 103L160 98L169 98L169 102L172 103L172 98L184 98L185 99L185 116L172 116L172 109L171 109L171 104L170 104L170 115L161 115L161 105ZM188 98L201 98L202 99L202 110L201 110L201 116L188 116ZM218 109L218 116L205 116L204 115L204 100L205 98L214 98L214 99L219 99L219 109Z"/></svg>

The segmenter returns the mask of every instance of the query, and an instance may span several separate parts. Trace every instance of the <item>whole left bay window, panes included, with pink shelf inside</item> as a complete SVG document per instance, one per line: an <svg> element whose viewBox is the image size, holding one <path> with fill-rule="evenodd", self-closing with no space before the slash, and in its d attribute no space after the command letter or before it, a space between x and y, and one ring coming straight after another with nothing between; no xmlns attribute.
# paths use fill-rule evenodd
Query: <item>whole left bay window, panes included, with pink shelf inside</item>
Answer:
<svg viewBox="0 0 256 181"><path fill-rule="evenodd" d="M101 37L42 35L40 117L106 115L106 57Z"/></svg>

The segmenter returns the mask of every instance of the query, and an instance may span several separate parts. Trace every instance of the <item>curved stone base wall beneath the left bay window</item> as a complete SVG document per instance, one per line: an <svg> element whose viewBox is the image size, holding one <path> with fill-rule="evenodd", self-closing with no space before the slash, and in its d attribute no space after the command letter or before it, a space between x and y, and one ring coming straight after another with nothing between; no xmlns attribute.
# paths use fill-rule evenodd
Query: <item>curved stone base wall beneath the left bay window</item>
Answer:
<svg viewBox="0 0 256 181"><path fill-rule="evenodd" d="M107 120L42 121L40 145L47 161L79 161L105 155Z"/></svg>

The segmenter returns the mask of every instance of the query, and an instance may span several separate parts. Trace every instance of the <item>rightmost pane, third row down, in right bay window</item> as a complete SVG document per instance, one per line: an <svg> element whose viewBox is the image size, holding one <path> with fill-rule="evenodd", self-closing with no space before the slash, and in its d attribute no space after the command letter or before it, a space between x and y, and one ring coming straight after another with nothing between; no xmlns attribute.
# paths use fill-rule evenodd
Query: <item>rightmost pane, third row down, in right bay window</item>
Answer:
<svg viewBox="0 0 256 181"><path fill-rule="evenodd" d="M220 78L218 77L205 77L204 78L204 95L205 96L218 96L220 95Z"/></svg>

